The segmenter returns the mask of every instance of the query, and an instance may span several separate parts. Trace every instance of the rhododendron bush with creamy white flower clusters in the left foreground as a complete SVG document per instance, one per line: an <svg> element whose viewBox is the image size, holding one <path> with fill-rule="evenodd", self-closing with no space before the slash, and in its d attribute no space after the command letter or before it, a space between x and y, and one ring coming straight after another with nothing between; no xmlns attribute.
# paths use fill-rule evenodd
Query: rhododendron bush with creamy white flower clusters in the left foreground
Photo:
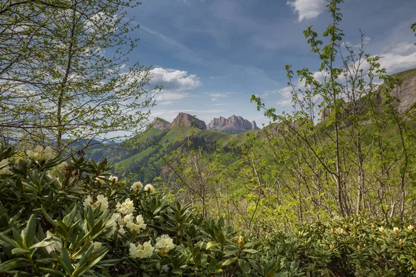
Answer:
<svg viewBox="0 0 416 277"><path fill-rule="evenodd" d="M1 276L274 276L259 244L107 161L0 150Z"/></svg>

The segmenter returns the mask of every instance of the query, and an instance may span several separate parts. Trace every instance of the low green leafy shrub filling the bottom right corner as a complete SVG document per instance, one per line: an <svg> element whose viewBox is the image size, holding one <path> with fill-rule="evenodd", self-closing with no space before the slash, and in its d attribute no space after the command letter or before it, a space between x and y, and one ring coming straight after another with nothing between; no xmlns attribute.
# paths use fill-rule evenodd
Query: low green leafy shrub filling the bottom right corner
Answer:
<svg viewBox="0 0 416 277"><path fill-rule="evenodd" d="M411 224L388 228L354 216L277 233L262 250L284 259L291 276L416 276L415 245Z"/></svg>

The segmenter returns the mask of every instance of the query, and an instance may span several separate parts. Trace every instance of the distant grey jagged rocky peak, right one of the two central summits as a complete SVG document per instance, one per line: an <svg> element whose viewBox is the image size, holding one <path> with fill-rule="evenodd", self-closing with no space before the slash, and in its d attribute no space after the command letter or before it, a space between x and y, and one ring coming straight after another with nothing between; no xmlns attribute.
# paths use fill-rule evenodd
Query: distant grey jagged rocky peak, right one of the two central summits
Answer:
<svg viewBox="0 0 416 277"><path fill-rule="evenodd" d="M214 118L208 125L208 129L225 132L228 134L239 134L241 132L250 131L252 129L259 129L256 122L250 123L247 119L241 116L230 116L229 118Z"/></svg>

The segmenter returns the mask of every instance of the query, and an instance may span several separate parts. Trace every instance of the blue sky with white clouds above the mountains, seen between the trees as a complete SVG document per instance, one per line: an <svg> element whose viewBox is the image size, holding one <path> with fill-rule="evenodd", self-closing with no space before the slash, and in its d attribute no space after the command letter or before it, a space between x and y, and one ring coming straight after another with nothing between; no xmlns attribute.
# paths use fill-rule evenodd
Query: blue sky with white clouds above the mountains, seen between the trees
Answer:
<svg viewBox="0 0 416 277"><path fill-rule="evenodd" d="M254 93L269 107L291 109L284 66L318 69L303 30L322 33L330 23L324 0L143 0L130 14L140 24L130 60L153 66L152 84L164 87L153 116L178 112L209 121L243 116L268 119L250 102ZM345 40L381 55L389 73L416 68L415 0L345 0L340 8Z"/></svg>

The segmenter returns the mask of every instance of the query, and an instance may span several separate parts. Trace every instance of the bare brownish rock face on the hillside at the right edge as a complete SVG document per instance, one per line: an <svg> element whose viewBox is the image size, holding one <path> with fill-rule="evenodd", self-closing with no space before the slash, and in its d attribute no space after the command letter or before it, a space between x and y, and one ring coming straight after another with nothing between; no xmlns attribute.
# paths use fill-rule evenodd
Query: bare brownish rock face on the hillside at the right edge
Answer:
<svg viewBox="0 0 416 277"><path fill-rule="evenodd" d="M416 102L416 76L406 78L403 82L395 87L390 93L391 96L400 100L397 111L403 114L413 103Z"/></svg>

